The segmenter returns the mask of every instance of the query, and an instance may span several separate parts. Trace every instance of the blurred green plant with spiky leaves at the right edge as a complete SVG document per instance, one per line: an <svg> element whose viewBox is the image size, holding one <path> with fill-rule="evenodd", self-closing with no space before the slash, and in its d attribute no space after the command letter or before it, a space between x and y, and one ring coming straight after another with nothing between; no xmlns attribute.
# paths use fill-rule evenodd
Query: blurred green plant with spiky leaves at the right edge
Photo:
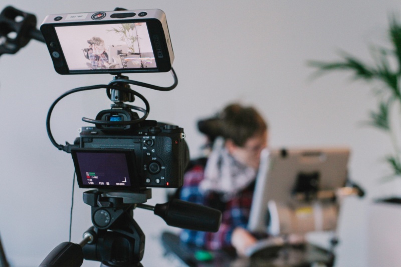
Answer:
<svg viewBox="0 0 401 267"><path fill-rule="evenodd" d="M374 86L374 96L378 105L376 110L369 112L367 124L384 132L391 142L393 151L385 156L385 162L391 170L383 177L386 180L401 179L401 147L396 136L397 127L401 122L401 24L394 17L389 21L388 39L390 43L388 48L370 47L373 60L371 64L364 63L345 52L340 53L339 61L308 63L317 69L317 75L346 71L352 74L354 80ZM393 198L390 201L399 200Z"/></svg>

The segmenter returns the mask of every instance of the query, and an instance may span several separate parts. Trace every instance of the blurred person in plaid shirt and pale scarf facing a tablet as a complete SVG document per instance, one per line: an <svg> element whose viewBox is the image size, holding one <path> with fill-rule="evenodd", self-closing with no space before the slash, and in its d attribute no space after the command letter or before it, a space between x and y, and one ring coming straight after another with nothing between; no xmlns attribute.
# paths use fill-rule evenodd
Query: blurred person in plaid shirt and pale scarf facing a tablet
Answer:
<svg viewBox="0 0 401 267"><path fill-rule="evenodd" d="M184 229L180 238L211 250L235 248L242 255L257 241L246 227L260 155L267 147L267 123L253 107L234 103L198 128L211 150L204 163L194 161L186 170L180 198L219 209L223 217L216 233Z"/></svg>

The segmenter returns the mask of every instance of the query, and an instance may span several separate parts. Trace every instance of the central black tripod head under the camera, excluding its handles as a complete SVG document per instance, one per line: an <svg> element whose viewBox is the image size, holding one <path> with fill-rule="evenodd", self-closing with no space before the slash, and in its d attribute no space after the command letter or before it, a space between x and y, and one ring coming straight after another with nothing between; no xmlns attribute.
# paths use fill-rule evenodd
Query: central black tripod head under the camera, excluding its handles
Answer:
<svg viewBox="0 0 401 267"><path fill-rule="evenodd" d="M85 259L101 261L101 266L142 266L145 235L133 219L133 209L151 197L151 189L138 192L84 192L84 202L92 207L87 233L96 236L83 247Z"/></svg>

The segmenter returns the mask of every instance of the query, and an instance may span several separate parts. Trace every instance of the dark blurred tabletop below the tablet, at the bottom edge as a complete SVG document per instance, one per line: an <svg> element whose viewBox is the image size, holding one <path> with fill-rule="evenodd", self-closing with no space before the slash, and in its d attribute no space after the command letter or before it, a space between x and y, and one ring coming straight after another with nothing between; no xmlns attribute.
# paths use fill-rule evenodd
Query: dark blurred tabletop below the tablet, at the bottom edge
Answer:
<svg viewBox="0 0 401 267"><path fill-rule="evenodd" d="M188 267L320 267L331 266L332 261L326 250L311 244L264 248L251 257L237 257L234 251L210 251L212 259L200 261L194 256L200 249L182 243L175 233L163 232L161 242L166 254L177 257Z"/></svg>

